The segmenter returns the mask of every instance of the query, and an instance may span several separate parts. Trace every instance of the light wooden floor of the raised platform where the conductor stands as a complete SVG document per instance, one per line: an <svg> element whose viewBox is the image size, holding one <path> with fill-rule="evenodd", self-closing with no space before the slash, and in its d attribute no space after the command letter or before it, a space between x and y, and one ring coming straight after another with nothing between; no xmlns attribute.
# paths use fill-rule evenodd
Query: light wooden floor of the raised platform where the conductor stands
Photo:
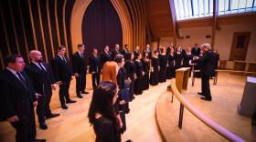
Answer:
<svg viewBox="0 0 256 142"><path fill-rule="evenodd" d="M197 92L200 91L201 82L198 78L195 86L191 86L191 79L189 79L188 89L182 94L191 105L196 106L199 111L220 126L226 127L246 141L256 141L256 127L251 126L251 118L241 117L237 113L245 79L245 76L221 73L217 86L213 86L212 80L210 81L211 102L199 99ZM174 103L171 103L171 93L165 91L157 101L156 118L166 141L227 141L194 117L186 108L183 127L179 129L178 114L178 100L174 96Z"/></svg>

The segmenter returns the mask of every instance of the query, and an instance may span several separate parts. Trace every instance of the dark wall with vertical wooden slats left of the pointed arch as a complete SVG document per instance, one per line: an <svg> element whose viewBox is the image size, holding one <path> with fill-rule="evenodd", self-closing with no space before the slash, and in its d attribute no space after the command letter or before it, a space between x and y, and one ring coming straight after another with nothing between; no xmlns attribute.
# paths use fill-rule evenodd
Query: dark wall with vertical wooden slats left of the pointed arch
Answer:
<svg viewBox="0 0 256 142"><path fill-rule="evenodd" d="M70 56L69 13L73 4L73 0L0 1L0 70L6 55L20 54L28 63L32 49L41 51L48 62L60 45L67 47Z"/></svg>

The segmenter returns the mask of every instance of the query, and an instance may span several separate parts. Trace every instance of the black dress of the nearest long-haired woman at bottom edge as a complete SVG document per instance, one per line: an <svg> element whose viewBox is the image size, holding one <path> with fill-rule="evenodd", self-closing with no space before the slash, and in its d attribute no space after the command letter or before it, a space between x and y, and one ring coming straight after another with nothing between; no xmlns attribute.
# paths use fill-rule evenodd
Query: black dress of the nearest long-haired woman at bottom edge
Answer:
<svg viewBox="0 0 256 142"><path fill-rule="evenodd" d="M121 133L111 119L99 117L93 124L96 142L121 142Z"/></svg>

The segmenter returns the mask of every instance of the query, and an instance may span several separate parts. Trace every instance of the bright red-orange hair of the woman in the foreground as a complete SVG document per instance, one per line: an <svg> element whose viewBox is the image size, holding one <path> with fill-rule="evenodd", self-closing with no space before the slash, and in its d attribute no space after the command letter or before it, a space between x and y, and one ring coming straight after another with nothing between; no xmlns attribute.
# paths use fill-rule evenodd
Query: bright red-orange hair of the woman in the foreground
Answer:
<svg viewBox="0 0 256 142"><path fill-rule="evenodd" d="M117 83L118 65L114 61L107 61L102 68L102 79L101 81L111 81Z"/></svg>

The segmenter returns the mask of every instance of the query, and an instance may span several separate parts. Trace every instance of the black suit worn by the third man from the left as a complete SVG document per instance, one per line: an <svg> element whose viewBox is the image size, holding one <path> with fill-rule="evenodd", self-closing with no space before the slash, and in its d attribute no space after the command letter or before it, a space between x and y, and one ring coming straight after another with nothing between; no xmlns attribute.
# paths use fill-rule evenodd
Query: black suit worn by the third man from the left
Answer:
<svg viewBox="0 0 256 142"><path fill-rule="evenodd" d="M66 101L70 100L69 97L69 86L72 76L72 68L69 63L68 57L64 56L64 61L60 56L56 56L52 59L52 71L55 77L55 80L61 81L62 85L59 85L59 100L61 105L65 105Z"/></svg>

